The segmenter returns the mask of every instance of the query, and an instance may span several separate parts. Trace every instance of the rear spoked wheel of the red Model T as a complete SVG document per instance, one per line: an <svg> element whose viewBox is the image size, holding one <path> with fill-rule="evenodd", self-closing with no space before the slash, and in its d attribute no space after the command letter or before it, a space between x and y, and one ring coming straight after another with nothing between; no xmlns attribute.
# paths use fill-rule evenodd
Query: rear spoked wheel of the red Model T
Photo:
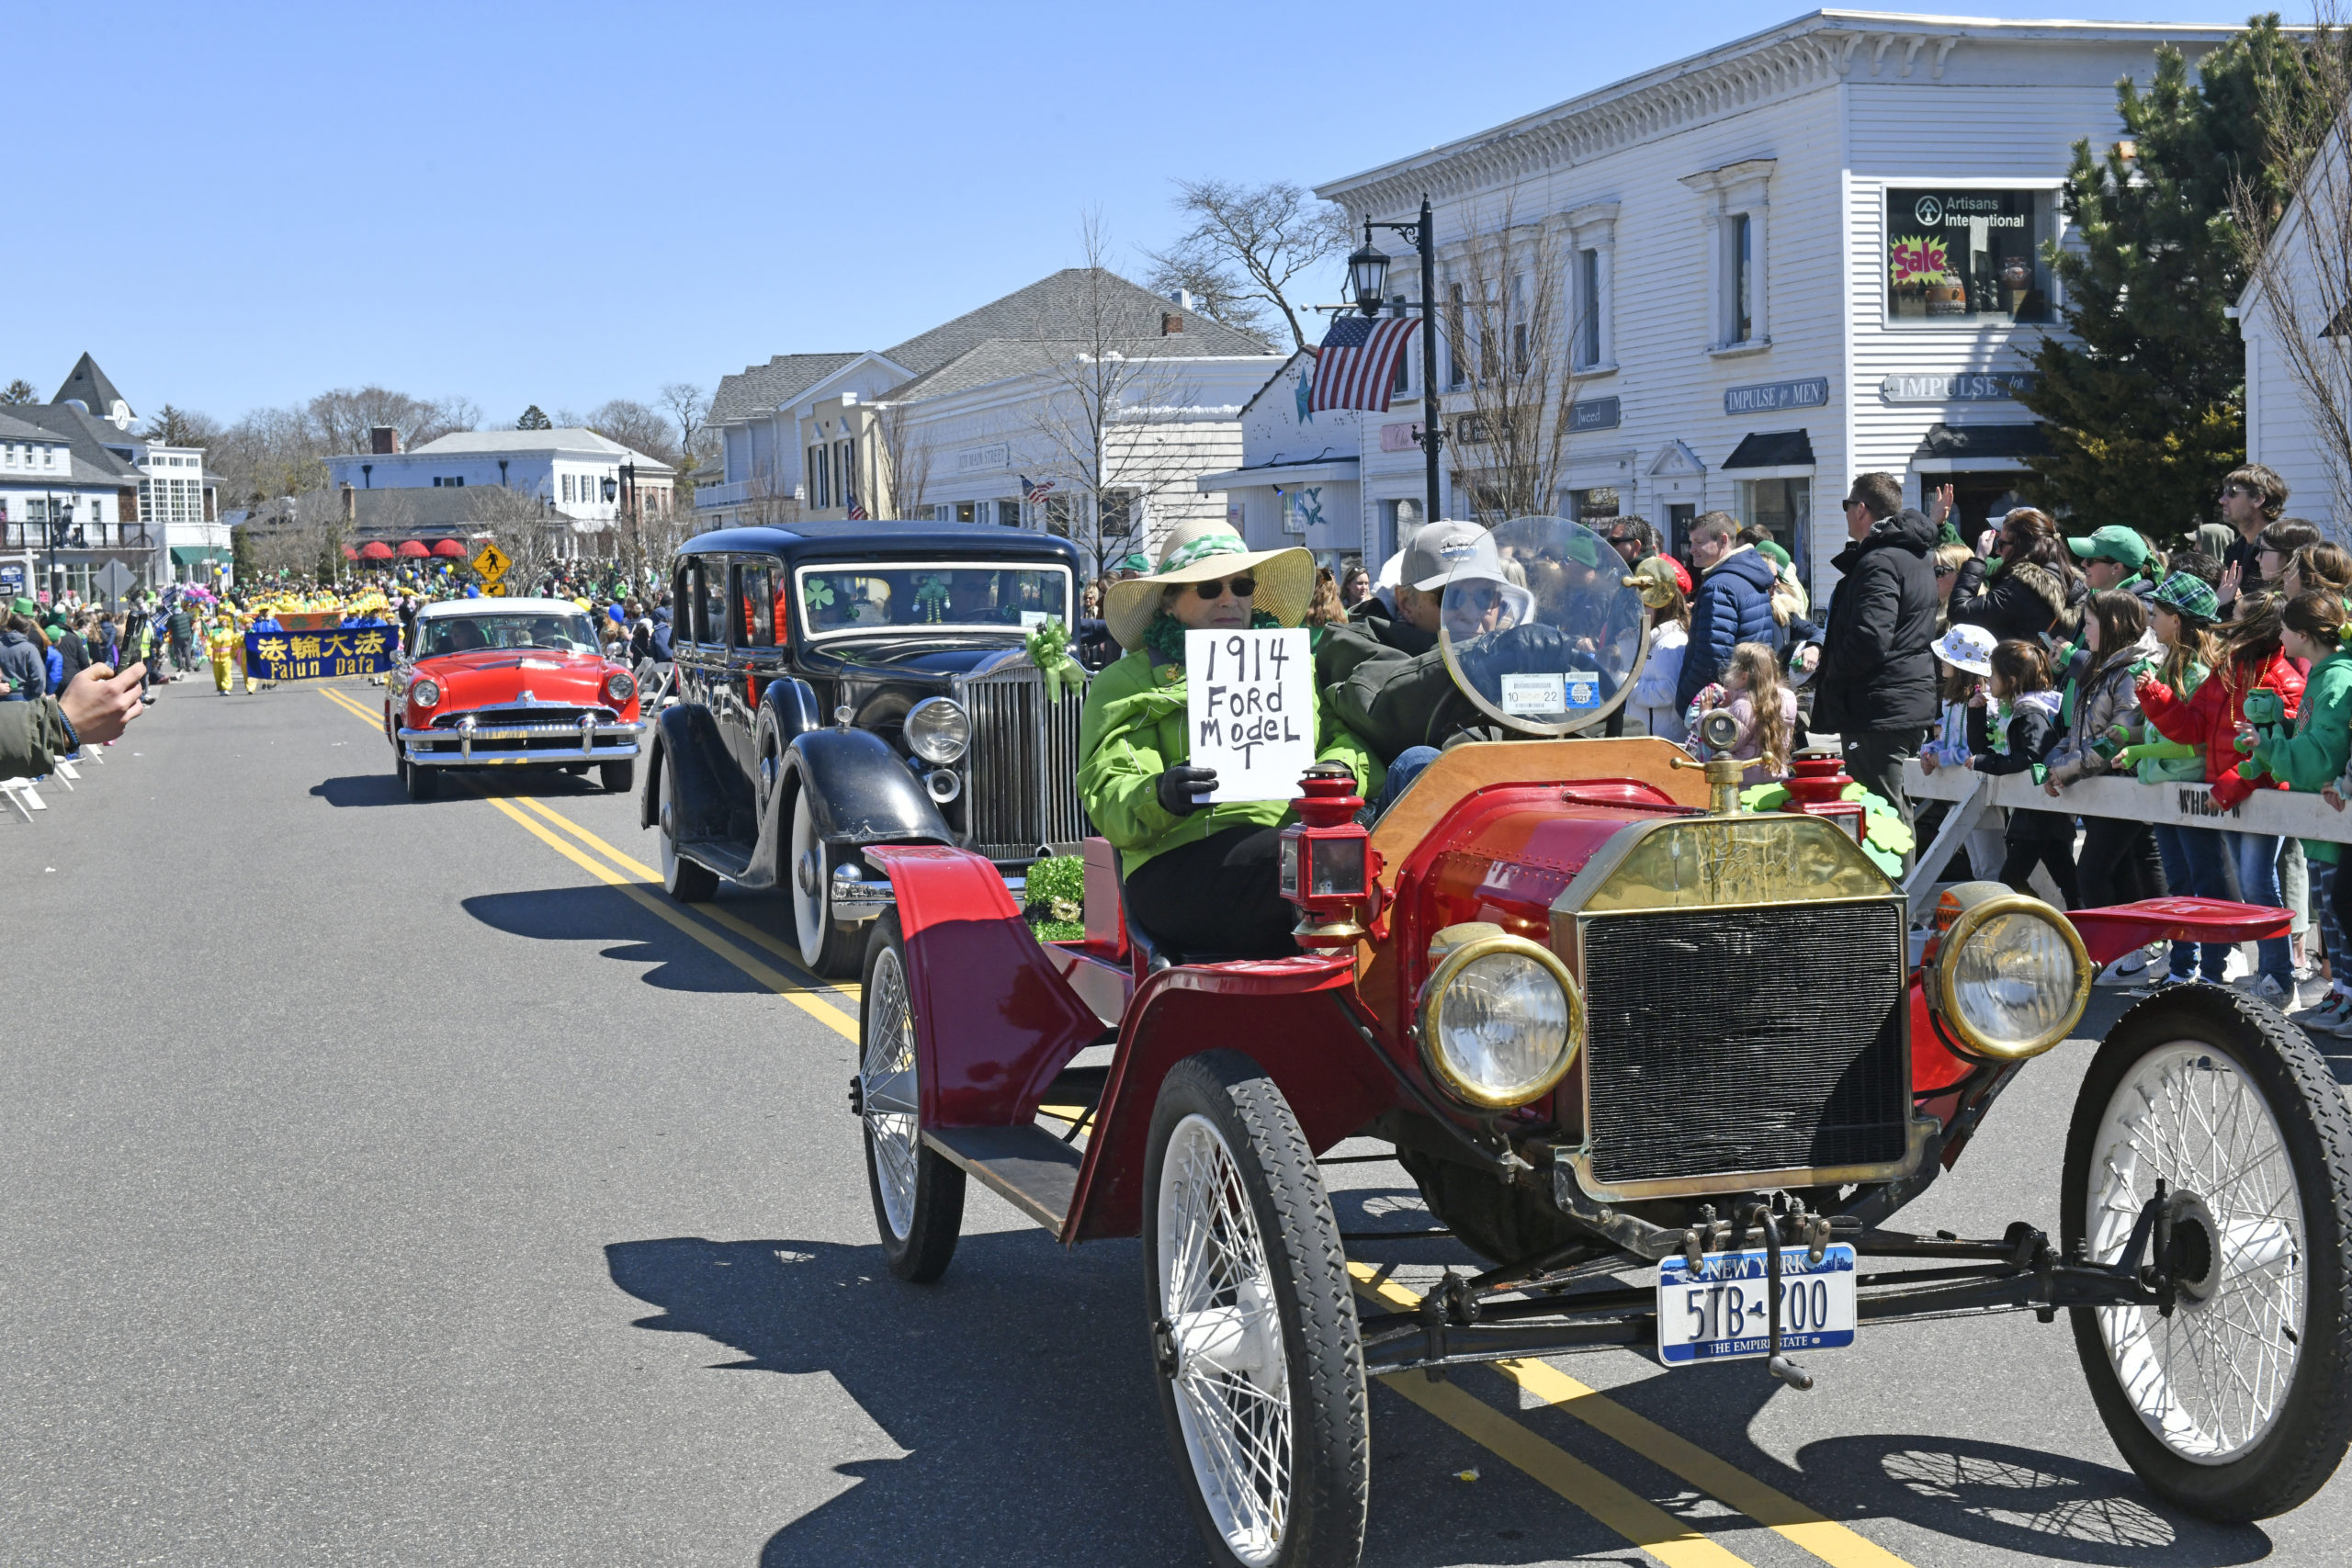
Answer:
<svg viewBox="0 0 2352 1568"><path fill-rule="evenodd" d="M948 1272L964 1229L964 1173L922 1143L922 1060L896 914L875 922L866 947L856 1088L866 1190L889 1272L929 1284Z"/></svg>

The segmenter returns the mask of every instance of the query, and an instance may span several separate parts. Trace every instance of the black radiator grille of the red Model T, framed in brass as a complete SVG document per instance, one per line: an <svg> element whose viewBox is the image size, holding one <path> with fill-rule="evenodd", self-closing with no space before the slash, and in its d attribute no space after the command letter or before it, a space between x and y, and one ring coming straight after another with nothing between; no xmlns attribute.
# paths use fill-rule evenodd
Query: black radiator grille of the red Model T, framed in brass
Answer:
<svg viewBox="0 0 2352 1568"><path fill-rule="evenodd" d="M1581 945L1599 1185L1905 1161L1900 900L1590 917Z"/></svg>

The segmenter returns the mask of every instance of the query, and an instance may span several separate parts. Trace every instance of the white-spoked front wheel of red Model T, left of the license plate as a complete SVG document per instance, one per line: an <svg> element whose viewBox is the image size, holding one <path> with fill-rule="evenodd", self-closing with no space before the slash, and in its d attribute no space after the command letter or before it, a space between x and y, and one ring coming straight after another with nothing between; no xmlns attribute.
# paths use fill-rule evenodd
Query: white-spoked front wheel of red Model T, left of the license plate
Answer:
<svg viewBox="0 0 2352 1568"><path fill-rule="evenodd" d="M1178 1063L1143 1180L1160 1406L1209 1552L1352 1568L1371 1486L1364 1354L1338 1222L1289 1103L1235 1051Z"/></svg>

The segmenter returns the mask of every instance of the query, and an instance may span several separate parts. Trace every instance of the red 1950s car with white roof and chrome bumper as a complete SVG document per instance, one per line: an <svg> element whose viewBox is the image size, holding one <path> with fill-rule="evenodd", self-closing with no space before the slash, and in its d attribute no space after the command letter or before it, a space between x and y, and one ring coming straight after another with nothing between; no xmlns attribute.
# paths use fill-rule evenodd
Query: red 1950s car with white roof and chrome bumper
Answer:
<svg viewBox="0 0 2352 1568"><path fill-rule="evenodd" d="M637 780L637 677L597 654L569 599L445 599L416 611L416 649L383 689L383 738L409 799L445 769L597 769Z"/></svg>

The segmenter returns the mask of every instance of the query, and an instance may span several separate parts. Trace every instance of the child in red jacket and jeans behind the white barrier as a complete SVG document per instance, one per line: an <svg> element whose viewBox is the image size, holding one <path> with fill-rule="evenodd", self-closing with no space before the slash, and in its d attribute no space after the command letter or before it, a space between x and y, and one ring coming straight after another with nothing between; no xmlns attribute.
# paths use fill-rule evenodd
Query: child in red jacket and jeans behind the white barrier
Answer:
<svg viewBox="0 0 2352 1568"><path fill-rule="evenodd" d="M2291 715L2303 701L2303 672L2286 661L2279 642L2279 597L2270 592L2239 595L2237 621L2230 621L2218 642L2213 672L2185 703L2176 698L2161 679L2140 677L2140 712L2169 741L2192 741L2206 750L2206 783L2213 785L2216 806L2234 806L2253 795L2256 783L2241 778L2237 764L2239 724L2246 717L2251 691L2277 691ZM2237 867L2237 893L2241 900L2267 907L2286 907L2279 893L2279 835L2272 832L2223 832L2223 846ZM2284 936L2258 943L2260 969L2249 983L2249 992L2279 1009L2296 1004L2296 957ZM2216 976L2206 976L2209 980Z"/></svg>

